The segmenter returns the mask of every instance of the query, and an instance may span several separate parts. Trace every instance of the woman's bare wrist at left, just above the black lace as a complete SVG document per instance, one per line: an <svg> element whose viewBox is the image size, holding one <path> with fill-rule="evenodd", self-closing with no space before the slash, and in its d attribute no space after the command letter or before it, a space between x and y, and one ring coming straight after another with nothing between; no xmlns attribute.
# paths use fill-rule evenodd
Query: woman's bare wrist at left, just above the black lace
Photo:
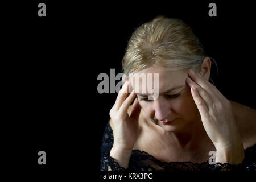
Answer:
<svg viewBox="0 0 256 182"><path fill-rule="evenodd" d="M115 159L121 167L128 168L131 157L131 150L121 150L113 147L110 156Z"/></svg>

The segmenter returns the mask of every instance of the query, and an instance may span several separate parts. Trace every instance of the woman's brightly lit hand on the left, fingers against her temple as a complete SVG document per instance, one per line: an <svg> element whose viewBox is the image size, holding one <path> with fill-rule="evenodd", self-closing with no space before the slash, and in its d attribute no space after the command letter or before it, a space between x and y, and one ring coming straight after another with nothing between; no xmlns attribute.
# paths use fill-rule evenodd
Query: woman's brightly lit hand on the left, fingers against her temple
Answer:
<svg viewBox="0 0 256 182"><path fill-rule="evenodd" d="M126 81L109 113L113 127L113 148L118 148L121 151L131 151L137 139L141 106L138 98L134 100L135 96L134 90L129 94L129 81ZM127 111L133 100L133 108L129 115Z"/></svg>

